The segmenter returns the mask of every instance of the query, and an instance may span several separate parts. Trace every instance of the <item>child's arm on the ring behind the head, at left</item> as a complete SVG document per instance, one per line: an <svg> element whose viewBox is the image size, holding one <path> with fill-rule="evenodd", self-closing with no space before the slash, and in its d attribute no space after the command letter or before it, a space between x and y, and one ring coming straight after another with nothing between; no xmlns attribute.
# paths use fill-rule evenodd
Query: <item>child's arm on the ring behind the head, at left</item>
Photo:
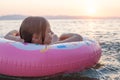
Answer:
<svg viewBox="0 0 120 80"><path fill-rule="evenodd" d="M10 31L9 33L7 33L4 36L4 38L9 39L9 40L18 41L18 42L24 42L24 40L20 38L19 32L17 30Z"/></svg>

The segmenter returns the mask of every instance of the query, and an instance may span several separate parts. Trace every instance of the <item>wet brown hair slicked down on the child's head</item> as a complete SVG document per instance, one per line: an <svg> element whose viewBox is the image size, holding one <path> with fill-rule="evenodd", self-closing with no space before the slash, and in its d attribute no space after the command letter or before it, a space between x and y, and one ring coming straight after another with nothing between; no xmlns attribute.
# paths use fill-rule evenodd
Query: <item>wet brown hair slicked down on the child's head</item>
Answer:
<svg viewBox="0 0 120 80"><path fill-rule="evenodd" d="M32 43L33 34L40 34L42 44L44 44L47 26L50 25L43 17L27 17L20 26L20 37L24 39L24 42Z"/></svg>

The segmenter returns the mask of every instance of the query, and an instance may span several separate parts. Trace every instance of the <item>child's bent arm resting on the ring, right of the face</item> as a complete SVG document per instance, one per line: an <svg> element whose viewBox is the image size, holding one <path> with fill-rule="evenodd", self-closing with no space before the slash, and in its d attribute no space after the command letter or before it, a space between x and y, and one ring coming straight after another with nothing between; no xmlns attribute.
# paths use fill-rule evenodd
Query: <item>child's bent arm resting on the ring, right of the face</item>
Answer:
<svg viewBox="0 0 120 80"><path fill-rule="evenodd" d="M74 33L68 33L68 34L62 34L59 38L59 41L55 42L57 43L65 43L65 42L75 42L75 41L82 41L83 38L79 34Z"/></svg>

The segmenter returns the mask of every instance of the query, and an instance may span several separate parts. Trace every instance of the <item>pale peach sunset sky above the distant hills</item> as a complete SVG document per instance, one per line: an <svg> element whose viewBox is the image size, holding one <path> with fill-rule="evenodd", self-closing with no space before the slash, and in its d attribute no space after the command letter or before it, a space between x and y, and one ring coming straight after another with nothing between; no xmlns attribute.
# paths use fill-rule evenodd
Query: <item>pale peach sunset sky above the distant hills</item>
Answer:
<svg viewBox="0 0 120 80"><path fill-rule="evenodd" d="M120 17L120 0L0 0L0 16Z"/></svg>

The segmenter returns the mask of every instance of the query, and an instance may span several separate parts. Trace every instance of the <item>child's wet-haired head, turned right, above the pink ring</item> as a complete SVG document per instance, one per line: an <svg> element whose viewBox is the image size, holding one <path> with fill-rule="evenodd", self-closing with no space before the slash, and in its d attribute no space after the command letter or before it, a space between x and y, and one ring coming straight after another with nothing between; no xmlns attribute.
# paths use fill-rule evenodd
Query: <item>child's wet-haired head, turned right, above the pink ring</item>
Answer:
<svg viewBox="0 0 120 80"><path fill-rule="evenodd" d="M20 37L28 43L50 44L52 31L43 17L27 17L20 26Z"/></svg>

